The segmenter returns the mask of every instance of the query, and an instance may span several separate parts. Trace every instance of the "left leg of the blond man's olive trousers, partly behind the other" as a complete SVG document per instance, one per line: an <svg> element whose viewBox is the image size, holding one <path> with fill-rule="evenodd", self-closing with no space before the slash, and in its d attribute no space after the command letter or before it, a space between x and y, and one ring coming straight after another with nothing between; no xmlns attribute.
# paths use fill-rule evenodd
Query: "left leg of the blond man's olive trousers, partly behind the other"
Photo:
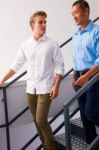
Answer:
<svg viewBox="0 0 99 150"><path fill-rule="evenodd" d="M37 111L37 101L38 101L37 98L38 98L38 96L36 94L27 94L27 97L28 97L29 109L30 109L30 112L32 113L33 121L35 123L37 132L39 134L40 140L42 141L42 143L44 143L43 134L41 132L41 129L37 125L37 122L36 122L36 111Z"/></svg>

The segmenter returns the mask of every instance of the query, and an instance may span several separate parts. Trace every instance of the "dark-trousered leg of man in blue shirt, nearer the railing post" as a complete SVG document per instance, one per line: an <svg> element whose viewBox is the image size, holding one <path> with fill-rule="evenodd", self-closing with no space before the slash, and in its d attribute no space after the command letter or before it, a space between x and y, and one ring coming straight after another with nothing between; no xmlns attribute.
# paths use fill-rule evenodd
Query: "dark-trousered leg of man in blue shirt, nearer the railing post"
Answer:
<svg viewBox="0 0 99 150"><path fill-rule="evenodd" d="M79 78L79 75L75 74L75 80L77 80ZM75 91L78 91L81 87L79 86L75 86L74 89ZM87 119L86 117L86 103L87 103L87 94L84 93L79 99L78 99L78 104L80 107L80 115L81 115L81 120L83 123L83 127L84 127L84 131L85 131L85 135L86 135L86 141L90 144L94 138L97 136L96 134L96 128L95 128L95 124L90 121L89 119Z"/></svg>

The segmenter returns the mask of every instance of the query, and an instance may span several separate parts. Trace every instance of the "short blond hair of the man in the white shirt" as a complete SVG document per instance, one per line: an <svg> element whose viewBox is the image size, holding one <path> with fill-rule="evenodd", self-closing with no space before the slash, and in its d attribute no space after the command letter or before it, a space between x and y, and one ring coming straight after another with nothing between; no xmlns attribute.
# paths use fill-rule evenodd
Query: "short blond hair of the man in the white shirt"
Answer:
<svg viewBox="0 0 99 150"><path fill-rule="evenodd" d="M35 17L37 17L37 16L44 16L45 18L47 18L46 12L44 12L44 11L36 11L30 17L30 26L32 25L32 23L34 22Z"/></svg>

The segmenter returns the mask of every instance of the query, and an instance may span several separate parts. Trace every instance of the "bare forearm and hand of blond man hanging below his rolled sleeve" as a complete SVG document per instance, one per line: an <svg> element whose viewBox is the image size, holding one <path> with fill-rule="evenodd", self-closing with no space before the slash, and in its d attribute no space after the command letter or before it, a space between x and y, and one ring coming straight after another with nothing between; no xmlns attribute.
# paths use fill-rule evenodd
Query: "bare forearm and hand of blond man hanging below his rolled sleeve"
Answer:
<svg viewBox="0 0 99 150"><path fill-rule="evenodd" d="M55 83L51 89L51 92L50 92L50 98L51 99L54 99L58 96L58 92L59 92L59 87L60 87L60 82L62 80L62 75L60 74L56 74L56 77L55 77Z"/></svg>

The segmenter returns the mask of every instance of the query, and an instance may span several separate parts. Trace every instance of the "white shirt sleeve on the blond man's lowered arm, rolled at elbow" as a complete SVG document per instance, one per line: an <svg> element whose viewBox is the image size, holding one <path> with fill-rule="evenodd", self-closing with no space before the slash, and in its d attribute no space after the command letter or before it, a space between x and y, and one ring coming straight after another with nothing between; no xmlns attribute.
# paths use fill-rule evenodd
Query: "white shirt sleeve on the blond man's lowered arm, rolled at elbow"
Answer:
<svg viewBox="0 0 99 150"><path fill-rule="evenodd" d="M55 74L64 75L64 61L60 50L60 46L57 41L54 43L54 62L55 62Z"/></svg>

